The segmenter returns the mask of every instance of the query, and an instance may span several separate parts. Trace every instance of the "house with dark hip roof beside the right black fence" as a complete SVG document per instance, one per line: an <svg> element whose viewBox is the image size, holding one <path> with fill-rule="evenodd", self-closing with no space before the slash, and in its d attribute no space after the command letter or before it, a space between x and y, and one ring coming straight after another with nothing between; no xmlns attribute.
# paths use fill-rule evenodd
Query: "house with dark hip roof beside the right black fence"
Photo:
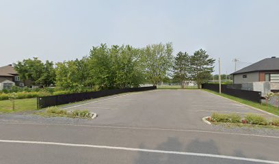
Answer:
<svg viewBox="0 0 279 164"><path fill-rule="evenodd" d="M233 72L233 84L241 90L268 92L279 91L279 58L271 57Z"/></svg>

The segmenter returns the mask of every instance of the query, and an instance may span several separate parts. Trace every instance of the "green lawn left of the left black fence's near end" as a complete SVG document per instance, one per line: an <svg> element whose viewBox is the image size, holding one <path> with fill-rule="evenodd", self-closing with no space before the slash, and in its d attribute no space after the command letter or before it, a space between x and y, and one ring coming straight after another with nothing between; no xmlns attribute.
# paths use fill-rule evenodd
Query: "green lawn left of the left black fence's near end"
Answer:
<svg viewBox="0 0 279 164"><path fill-rule="evenodd" d="M15 100L15 110L12 110L10 100L0 100L0 113L14 113L18 111L33 111L37 109L37 98L25 98Z"/></svg>

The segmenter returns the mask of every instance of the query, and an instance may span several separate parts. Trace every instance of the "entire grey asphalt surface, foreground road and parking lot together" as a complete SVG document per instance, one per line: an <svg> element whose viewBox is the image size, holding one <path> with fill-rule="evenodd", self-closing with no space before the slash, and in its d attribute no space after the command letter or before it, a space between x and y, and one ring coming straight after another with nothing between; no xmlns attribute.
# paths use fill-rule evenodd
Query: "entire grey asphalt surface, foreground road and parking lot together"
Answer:
<svg viewBox="0 0 279 164"><path fill-rule="evenodd" d="M270 117L261 111L198 90L106 99L68 106L94 111L96 120L0 117L0 163L279 163L278 130L243 131L201 121L213 111Z"/></svg>

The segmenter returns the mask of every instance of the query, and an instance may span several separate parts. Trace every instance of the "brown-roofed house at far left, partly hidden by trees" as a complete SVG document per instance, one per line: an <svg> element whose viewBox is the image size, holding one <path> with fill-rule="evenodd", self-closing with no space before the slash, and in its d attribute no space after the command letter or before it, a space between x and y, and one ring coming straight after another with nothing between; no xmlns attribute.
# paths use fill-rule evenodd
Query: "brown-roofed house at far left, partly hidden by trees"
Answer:
<svg viewBox="0 0 279 164"><path fill-rule="evenodd" d="M0 67L0 90L10 89L13 85L24 86L12 64Z"/></svg>

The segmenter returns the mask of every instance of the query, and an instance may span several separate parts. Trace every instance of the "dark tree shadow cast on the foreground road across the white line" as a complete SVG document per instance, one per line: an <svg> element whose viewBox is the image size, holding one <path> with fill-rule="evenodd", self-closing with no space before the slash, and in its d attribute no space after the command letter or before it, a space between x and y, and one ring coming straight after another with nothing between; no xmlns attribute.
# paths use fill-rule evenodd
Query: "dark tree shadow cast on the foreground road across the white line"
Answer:
<svg viewBox="0 0 279 164"><path fill-rule="evenodd" d="M146 149L144 144L139 146L141 149ZM200 141L200 139L194 139L187 145L178 140L177 137L168 137L167 141L159 144L155 150L176 151L176 152L196 152L204 154L220 154L215 141L210 139L209 141ZM242 150L235 150L232 156L245 157ZM261 158L263 159L263 158ZM231 159L217 159L213 157L202 156L188 156L181 154L164 154L157 152L138 152L138 157L133 162L135 164L178 164L178 163L243 163L243 161L231 160ZM246 164L252 164L253 162L245 161Z"/></svg>

